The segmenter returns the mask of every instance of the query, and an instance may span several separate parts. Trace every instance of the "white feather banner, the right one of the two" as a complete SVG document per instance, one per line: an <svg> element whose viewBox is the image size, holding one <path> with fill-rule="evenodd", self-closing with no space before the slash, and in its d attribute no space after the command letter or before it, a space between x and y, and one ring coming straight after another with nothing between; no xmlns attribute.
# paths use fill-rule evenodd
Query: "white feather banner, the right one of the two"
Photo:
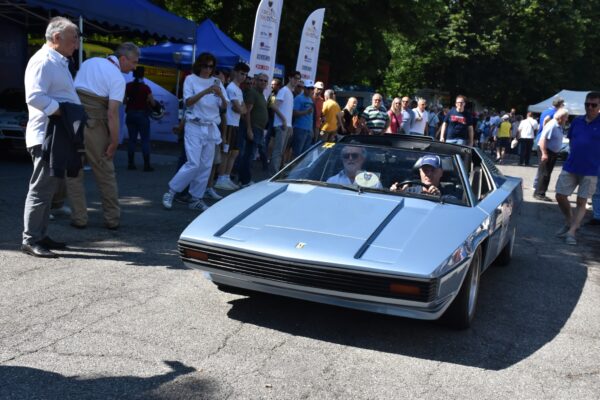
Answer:
<svg viewBox="0 0 600 400"><path fill-rule="evenodd" d="M300 48L298 49L298 61L296 62L296 71L300 71L302 79L314 81L317 77L319 46L321 45L321 30L323 29L324 17L325 9L319 8L313 11L304 23Z"/></svg>

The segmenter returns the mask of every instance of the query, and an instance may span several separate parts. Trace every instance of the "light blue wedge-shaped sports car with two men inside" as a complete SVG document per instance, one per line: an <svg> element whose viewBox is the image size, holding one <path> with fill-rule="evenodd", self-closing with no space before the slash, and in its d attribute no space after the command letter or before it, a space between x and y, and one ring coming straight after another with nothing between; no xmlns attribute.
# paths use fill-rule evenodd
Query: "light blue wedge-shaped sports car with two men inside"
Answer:
<svg viewBox="0 0 600 400"><path fill-rule="evenodd" d="M185 264L258 291L468 328L523 199L478 149L401 135L319 143L181 234Z"/></svg>

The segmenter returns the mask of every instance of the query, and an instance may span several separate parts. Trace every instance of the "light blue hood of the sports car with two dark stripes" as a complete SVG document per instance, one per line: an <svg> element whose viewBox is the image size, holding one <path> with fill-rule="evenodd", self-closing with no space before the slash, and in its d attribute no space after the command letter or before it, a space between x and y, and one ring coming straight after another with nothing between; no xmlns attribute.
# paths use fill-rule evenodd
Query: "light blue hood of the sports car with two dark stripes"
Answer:
<svg viewBox="0 0 600 400"><path fill-rule="evenodd" d="M181 239L431 277L486 216L477 208L389 194L308 184L255 186L211 207Z"/></svg>

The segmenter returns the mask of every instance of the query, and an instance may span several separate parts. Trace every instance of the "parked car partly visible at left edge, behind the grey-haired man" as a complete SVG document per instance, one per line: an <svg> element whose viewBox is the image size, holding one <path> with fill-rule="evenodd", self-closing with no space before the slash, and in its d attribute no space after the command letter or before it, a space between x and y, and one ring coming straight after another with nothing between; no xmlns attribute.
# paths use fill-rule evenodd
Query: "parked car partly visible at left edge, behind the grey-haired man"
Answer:
<svg viewBox="0 0 600 400"><path fill-rule="evenodd" d="M0 149L25 150L28 113L24 89L0 93Z"/></svg>

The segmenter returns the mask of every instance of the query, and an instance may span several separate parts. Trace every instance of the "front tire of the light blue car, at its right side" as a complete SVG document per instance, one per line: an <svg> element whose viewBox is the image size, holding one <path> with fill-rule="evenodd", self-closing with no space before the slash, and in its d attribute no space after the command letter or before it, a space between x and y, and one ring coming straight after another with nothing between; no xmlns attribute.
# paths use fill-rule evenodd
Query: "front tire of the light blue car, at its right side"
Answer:
<svg viewBox="0 0 600 400"><path fill-rule="evenodd" d="M477 308L480 277L481 249L477 248L458 295L456 295L440 322L453 329L468 329L471 326Z"/></svg>

